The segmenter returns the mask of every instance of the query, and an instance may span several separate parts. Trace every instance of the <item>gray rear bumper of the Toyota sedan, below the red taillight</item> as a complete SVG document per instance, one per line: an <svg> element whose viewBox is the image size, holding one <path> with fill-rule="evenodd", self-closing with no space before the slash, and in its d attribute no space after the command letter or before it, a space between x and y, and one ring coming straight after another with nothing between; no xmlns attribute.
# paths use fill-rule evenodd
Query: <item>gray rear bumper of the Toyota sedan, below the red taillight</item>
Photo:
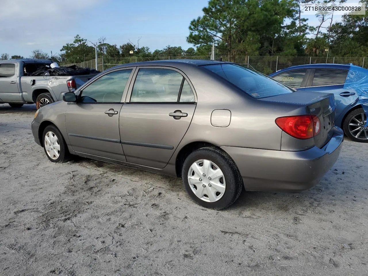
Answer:
<svg viewBox="0 0 368 276"><path fill-rule="evenodd" d="M222 146L235 161L247 191L303 191L316 185L340 155L343 131L305 151L272 151Z"/></svg>

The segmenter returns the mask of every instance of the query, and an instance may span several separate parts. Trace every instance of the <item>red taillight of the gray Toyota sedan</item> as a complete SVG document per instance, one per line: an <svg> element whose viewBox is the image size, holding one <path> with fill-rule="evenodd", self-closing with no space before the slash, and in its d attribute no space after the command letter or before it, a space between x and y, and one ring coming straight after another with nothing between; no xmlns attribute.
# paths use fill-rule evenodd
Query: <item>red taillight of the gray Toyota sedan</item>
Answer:
<svg viewBox="0 0 368 276"><path fill-rule="evenodd" d="M287 116L276 119L276 124L287 134L298 139L309 139L321 130L321 122L315 115Z"/></svg>

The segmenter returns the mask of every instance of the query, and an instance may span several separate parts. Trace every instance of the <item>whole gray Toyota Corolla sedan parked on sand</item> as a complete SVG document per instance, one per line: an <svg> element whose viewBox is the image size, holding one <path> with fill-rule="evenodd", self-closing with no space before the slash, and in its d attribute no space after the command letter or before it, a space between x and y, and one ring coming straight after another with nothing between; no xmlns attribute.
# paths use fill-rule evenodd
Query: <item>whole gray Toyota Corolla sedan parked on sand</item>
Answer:
<svg viewBox="0 0 368 276"><path fill-rule="evenodd" d="M52 162L79 155L181 177L222 209L247 191L301 191L339 156L333 94L297 92L234 63L170 60L106 70L32 122Z"/></svg>

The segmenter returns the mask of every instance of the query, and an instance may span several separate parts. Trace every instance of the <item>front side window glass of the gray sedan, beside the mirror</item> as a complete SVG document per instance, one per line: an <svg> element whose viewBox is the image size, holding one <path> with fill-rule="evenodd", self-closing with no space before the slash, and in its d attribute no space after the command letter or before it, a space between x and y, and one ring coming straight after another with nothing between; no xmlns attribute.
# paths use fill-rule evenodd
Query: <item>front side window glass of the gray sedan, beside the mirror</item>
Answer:
<svg viewBox="0 0 368 276"><path fill-rule="evenodd" d="M83 89L79 102L120 103L131 71L114 71L96 79Z"/></svg>

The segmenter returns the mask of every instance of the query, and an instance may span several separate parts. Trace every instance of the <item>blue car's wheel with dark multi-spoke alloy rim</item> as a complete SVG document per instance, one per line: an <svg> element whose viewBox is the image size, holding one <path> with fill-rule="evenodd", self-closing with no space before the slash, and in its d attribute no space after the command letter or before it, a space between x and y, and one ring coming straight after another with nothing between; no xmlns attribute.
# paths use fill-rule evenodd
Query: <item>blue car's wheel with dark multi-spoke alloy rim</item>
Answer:
<svg viewBox="0 0 368 276"><path fill-rule="evenodd" d="M350 112L344 120L344 132L347 137L355 142L368 142L367 116L362 108Z"/></svg>

